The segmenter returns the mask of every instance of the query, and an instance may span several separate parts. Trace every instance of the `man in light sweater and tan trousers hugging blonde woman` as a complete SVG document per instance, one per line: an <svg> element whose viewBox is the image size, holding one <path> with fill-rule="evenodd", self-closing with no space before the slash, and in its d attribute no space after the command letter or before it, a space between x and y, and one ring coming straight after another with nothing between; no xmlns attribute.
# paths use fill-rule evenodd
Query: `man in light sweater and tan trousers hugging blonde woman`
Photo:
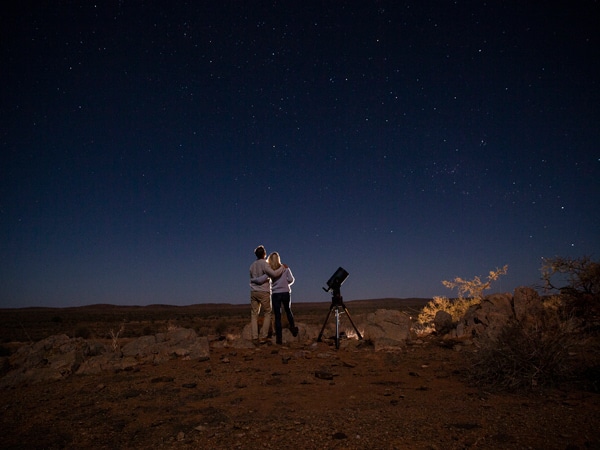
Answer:
<svg viewBox="0 0 600 450"><path fill-rule="evenodd" d="M254 249L256 261L250 266L250 279L258 278L262 275L268 275L269 279L263 284L254 284L250 282L250 325L252 329L252 340L258 341L258 315L261 308L265 312L264 321L260 329L260 342L267 342L269 327L271 326L271 278L277 278L286 269L281 266L277 270L271 269L267 262L267 251L262 245Z"/></svg>

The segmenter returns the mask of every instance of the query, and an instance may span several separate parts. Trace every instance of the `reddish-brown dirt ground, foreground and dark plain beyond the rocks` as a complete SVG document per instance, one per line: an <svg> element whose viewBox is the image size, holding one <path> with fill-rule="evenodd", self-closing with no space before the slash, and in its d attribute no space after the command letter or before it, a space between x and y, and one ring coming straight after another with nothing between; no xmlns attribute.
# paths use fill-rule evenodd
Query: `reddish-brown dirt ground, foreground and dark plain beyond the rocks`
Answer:
<svg viewBox="0 0 600 450"><path fill-rule="evenodd" d="M387 304L350 310L379 306ZM20 310L0 311L3 348L12 345L10 333L34 334L32 324L44 333L62 327L102 339L97 330L110 326L107 314L115 323L125 314L102 308L86 311L87 322L74 318L80 310L38 311L37 319L30 310L28 322L17 317ZM129 329L185 321L199 331L222 329L226 317L231 332L249 315L248 306L231 308L126 313ZM320 323L327 306L310 308L296 306L297 320ZM136 311L143 320L134 320ZM219 342L205 361L173 359L3 390L0 448L600 449L597 393L507 394L470 386L464 381L469 346L431 337L395 352L375 352L366 340L342 342L339 350L329 339L249 349Z"/></svg>

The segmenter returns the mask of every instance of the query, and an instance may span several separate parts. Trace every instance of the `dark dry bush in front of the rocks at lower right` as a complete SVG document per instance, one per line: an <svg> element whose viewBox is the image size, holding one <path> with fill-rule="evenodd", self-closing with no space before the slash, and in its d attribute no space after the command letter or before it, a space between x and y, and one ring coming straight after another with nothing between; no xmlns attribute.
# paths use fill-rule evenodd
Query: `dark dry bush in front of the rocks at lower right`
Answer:
<svg viewBox="0 0 600 450"><path fill-rule="evenodd" d="M579 370L574 356L585 343L579 322L561 308L547 308L535 323L510 321L495 337L482 338L470 356L468 378L494 390L554 385Z"/></svg>

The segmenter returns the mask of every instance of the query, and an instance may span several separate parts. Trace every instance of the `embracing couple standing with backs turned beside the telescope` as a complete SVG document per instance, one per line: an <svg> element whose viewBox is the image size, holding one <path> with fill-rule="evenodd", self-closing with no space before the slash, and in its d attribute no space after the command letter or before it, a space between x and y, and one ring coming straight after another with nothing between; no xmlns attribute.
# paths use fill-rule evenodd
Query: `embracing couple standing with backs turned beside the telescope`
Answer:
<svg viewBox="0 0 600 450"><path fill-rule="evenodd" d="M256 261L250 266L250 319L252 340L258 340L258 315L261 308L265 312L262 328L260 329L260 342L266 342L271 325L271 311L275 310L275 336L277 344L282 344L283 330L281 327L281 308L285 310L294 336L298 335L298 328L294 323L291 309L290 286L294 283L292 271L286 264L281 264L279 253L273 252L267 260L267 251L262 245L254 250ZM273 307L271 308L271 300Z"/></svg>

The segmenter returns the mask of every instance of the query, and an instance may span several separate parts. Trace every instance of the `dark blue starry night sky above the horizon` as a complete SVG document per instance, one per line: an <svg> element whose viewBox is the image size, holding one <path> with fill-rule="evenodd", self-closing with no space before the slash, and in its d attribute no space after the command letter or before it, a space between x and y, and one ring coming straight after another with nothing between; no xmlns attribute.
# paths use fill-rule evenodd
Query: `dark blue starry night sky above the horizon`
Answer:
<svg viewBox="0 0 600 450"><path fill-rule="evenodd" d="M600 255L594 1L0 6L0 307L452 296ZM562 6L556 6L556 4Z"/></svg>

